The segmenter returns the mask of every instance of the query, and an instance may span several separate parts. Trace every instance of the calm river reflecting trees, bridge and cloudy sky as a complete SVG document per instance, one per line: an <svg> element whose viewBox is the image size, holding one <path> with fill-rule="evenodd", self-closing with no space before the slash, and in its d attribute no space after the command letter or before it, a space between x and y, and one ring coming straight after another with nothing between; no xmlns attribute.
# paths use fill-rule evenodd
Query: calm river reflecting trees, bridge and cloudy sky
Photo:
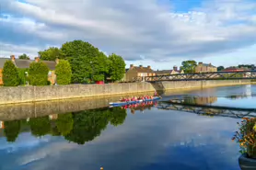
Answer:
<svg viewBox="0 0 256 170"><path fill-rule="evenodd" d="M240 117L205 108L206 114L195 113L184 106L208 106L212 112L215 107L256 108L256 85L162 96L159 102L138 108L80 106L68 113L2 116L0 169L239 170L239 145L231 138ZM180 101L180 110L170 100Z"/></svg>

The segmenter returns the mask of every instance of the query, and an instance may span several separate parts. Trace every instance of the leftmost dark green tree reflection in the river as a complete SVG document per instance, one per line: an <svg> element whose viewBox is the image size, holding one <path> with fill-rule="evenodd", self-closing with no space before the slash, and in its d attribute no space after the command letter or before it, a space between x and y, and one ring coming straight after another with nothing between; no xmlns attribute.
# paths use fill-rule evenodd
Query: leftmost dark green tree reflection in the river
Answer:
<svg viewBox="0 0 256 170"><path fill-rule="evenodd" d="M5 121L5 135L7 142L15 142L20 131L20 121Z"/></svg>

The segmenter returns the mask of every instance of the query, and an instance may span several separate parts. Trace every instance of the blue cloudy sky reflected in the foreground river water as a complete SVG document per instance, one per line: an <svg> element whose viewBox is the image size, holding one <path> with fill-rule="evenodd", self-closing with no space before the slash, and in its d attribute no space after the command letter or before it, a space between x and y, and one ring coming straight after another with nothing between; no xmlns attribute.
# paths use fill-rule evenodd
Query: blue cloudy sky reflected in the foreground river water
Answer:
<svg viewBox="0 0 256 170"><path fill-rule="evenodd" d="M176 163L180 169L194 169L203 162L236 169L239 153L236 143L230 140L230 131L236 130L237 120L153 109L146 114L128 115L122 126L109 126L95 141L85 145L61 139L50 141L23 153L17 160L19 164L29 164L28 170L99 169L100 166L111 170L161 169L163 164L166 169ZM186 160L180 162L181 158Z"/></svg>

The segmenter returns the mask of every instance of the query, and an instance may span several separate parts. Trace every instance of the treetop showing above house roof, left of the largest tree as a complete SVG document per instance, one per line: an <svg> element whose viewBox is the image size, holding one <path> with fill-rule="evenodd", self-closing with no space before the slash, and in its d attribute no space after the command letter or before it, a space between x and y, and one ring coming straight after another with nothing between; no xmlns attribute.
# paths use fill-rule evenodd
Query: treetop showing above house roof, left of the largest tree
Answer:
<svg viewBox="0 0 256 170"><path fill-rule="evenodd" d="M55 61L57 58L62 58L60 50L56 47L50 47L45 51L39 51L39 55L43 61Z"/></svg>

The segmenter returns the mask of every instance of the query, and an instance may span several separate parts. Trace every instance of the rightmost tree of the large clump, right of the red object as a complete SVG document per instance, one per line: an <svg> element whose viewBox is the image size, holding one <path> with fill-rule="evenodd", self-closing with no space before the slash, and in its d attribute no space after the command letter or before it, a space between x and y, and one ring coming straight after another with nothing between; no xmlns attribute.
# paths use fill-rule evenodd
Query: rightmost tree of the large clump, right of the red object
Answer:
<svg viewBox="0 0 256 170"><path fill-rule="evenodd" d="M111 77L112 81L119 81L122 80L122 77L125 74L125 62L123 61L122 57L112 53L109 56L109 76Z"/></svg>

